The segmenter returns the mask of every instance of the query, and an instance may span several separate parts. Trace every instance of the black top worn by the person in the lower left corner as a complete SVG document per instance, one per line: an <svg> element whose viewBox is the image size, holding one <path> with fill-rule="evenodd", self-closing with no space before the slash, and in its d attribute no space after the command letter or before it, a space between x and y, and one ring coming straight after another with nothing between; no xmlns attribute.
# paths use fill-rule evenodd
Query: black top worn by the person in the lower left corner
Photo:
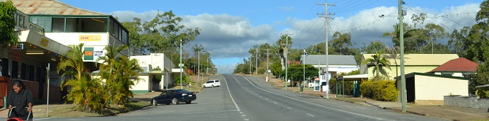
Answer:
<svg viewBox="0 0 489 121"><path fill-rule="evenodd" d="M29 111L27 111L25 107L29 107L29 103L32 104L32 92L30 90L22 90L19 94L15 93L14 90L10 91L7 96L7 107L8 105L12 105L12 107L15 107L12 110L12 114L10 115L10 117L22 118L23 120L27 120ZM29 118L32 118L32 113Z"/></svg>

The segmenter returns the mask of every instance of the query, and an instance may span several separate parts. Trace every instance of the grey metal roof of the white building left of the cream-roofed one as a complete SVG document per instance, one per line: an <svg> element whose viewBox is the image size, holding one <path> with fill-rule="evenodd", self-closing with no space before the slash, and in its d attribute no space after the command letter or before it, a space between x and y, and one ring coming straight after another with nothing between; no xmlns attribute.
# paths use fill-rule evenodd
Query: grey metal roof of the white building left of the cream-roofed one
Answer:
<svg viewBox="0 0 489 121"><path fill-rule="evenodd" d="M300 56L300 59L303 59L303 55ZM322 65L326 64L326 55L309 55L306 56L304 61L305 64L318 65L318 63ZM357 66L357 61L355 61L355 56L353 55L329 55L329 65L351 65Z"/></svg>

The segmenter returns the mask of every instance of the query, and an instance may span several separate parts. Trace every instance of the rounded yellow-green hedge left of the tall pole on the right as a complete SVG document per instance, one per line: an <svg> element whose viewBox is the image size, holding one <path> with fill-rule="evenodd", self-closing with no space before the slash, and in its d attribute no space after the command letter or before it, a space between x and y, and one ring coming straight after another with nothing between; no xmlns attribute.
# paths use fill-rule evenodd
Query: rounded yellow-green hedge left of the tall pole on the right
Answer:
<svg viewBox="0 0 489 121"><path fill-rule="evenodd" d="M395 81L363 81L360 84L361 95L366 98L382 101L396 101L397 90Z"/></svg>

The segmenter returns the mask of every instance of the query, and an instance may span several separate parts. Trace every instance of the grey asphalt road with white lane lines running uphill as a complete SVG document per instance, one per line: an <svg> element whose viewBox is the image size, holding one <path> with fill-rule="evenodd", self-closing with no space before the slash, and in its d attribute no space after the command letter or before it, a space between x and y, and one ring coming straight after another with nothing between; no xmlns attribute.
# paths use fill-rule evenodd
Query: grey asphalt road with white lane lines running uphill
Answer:
<svg viewBox="0 0 489 121"><path fill-rule="evenodd" d="M110 117L34 120L440 120L278 90L261 77L214 76L191 104L158 105Z"/></svg>

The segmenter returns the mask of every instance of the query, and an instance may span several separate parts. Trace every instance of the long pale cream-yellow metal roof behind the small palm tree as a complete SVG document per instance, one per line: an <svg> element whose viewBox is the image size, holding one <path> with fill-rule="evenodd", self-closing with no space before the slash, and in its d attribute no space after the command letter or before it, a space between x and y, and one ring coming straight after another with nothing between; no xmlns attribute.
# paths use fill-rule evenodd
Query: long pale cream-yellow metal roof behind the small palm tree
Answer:
<svg viewBox="0 0 489 121"><path fill-rule="evenodd" d="M372 58L375 54L363 54L363 59ZM391 66L401 66L401 55L382 54L390 62ZM405 66L440 66L451 59L457 59L457 54L406 54L404 55Z"/></svg>

